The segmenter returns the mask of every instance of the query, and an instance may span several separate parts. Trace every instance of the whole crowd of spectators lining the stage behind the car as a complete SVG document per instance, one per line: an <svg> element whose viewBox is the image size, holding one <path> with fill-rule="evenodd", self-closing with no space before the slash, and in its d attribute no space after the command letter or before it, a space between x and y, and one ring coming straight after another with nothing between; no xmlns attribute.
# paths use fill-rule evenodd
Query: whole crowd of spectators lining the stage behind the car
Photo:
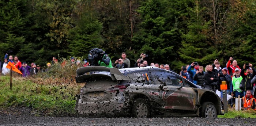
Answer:
<svg viewBox="0 0 256 126"><path fill-rule="evenodd" d="M105 53L105 52L104 52ZM104 58L105 57L105 58ZM136 60L134 65L131 65L130 60L127 58L126 53L122 53L121 57L117 59L114 64L108 57L108 54L104 54L102 60L99 61L99 65L107 66L107 67L115 67L115 68L130 68L134 67L144 67L144 66L155 66L161 69L166 69L173 71L170 69L168 64L158 64L158 63L150 63L148 65L147 55L142 53L140 54L140 58ZM51 65L58 64L58 60L53 57L51 62L47 63L47 68L45 70L41 69L40 65L36 65L35 63L31 63L31 65L27 65L26 62L20 62L17 56L9 56L5 54L4 62L1 62L0 59L0 73L2 75L6 75L10 72L10 69L7 69L6 66L8 62L11 62L23 73L23 77L37 75L40 72L49 71ZM79 60L75 60L74 57L70 59L71 65L80 65L80 66L89 66L89 62L85 59L83 64ZM63 61L61 65L65 65L66 61ZM174 72L174 71L173 71ZM251 100L252 102L249 106L253 106L255 108L255 83L256 83L256 71L252 64L244 64L242 69L237 65L237 61L232 57L229 58L226 65L220 64L218 59L214 60L213 64L209 64L205 66L200 66L197 62L192 62L190 65L181 66L180 75L188 79L194 84L200 85L206 89L210 89L212 91L216 91L220 89L220 85L222 81L226 81L227 83L227 94L233 96L234 98L238 98L240 96L243 99ZM249 95L251 94L251 95ZM233 100L229 101L230 106L233 106ZM245 101L244 101L245 103ZM245 104L245 107L248 107ZM256 110L256 109L255 109Z"/></svg>

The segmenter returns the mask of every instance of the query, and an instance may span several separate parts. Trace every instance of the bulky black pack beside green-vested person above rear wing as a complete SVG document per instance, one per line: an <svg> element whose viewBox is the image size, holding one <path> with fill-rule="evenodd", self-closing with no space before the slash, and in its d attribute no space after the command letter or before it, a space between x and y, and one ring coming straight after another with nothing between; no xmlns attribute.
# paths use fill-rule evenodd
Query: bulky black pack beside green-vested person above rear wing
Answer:
<svg viewBox="0 0 256 126"><path fill-rule="evenodd" d="M98 61L101 60L101 53L105 53L102 49L93 48L89 51L88 59L90 66L98 66Z"/></svg>

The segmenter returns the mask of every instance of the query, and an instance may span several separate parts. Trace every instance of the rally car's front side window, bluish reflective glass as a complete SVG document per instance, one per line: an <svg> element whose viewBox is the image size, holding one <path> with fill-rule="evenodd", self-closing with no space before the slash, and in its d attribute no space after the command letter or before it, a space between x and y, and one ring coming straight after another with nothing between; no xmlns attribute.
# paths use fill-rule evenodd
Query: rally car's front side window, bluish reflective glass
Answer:
<svg viewBox="0 0 256 126"><path fill-rule="evenodd" d="M181 86L182 84L181 79L169 72L154 70L151 71L151 74L156 84L166 84L174 86Z"/></svg>

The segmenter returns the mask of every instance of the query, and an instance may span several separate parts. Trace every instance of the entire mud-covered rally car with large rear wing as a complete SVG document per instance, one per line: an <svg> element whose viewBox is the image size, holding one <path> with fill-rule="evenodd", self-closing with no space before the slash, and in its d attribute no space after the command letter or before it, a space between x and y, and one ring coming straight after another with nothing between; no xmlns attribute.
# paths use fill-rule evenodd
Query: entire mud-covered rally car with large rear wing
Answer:
<svg viewBox="0 0 256 126"><path fill-rule="evenodd" d="M84 116L206 117L222 114L221 99L184 77L157 67L76 70L75 110Z"/></svg>

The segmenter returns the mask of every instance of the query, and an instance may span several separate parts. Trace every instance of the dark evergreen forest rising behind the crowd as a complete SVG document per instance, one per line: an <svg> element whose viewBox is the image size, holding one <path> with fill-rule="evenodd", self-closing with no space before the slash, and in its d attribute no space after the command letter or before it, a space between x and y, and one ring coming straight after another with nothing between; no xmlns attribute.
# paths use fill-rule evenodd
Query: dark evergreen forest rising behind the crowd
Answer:
<svg viewBox="0 0 256 126"><path fill-rule="evenodd" d="M46 65L52 57L88 58L101 48L131 66L199 62L256 65L255 0L0 0L0 58ZM3 61L3 60L2 60Z"/></svg>

